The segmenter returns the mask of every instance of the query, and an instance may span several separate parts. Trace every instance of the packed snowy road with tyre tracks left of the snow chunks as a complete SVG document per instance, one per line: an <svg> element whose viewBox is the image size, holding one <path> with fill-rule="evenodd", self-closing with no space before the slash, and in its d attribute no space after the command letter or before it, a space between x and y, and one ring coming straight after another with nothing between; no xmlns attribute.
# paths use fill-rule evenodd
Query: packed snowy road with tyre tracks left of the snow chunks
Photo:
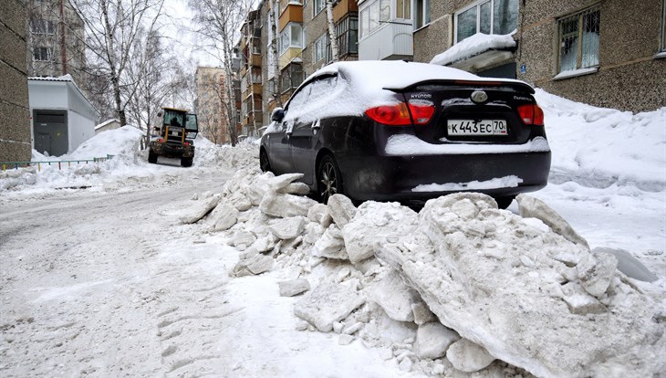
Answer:
<svg viewBox="0 0 666 378"><path fill-rule="evenodd" d="M215 319L233 312L223 262L163 257L174 246L202 251L168 215L224 183L197 178L3 203L0 375L158 376L194 362L171 340L193 324L222 327Z"/></svg>

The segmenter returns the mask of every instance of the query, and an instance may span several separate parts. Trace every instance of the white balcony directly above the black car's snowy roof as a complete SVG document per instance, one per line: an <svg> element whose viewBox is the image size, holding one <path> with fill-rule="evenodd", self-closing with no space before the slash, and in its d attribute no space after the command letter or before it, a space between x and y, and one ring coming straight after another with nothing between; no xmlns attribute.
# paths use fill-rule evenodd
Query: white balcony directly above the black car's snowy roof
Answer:
<svg viewBox="0 0 666 378"><path fill-rule="evenodd" d="M397 60L414 56L411 23L383 23L359 40L359 60Z"/></svg>

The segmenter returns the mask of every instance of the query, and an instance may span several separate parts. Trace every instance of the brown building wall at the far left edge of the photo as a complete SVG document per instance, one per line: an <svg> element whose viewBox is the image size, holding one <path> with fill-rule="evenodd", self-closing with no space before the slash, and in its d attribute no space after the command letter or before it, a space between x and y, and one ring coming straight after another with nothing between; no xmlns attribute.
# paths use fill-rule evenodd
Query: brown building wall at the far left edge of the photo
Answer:
<svg viewBox="0 0 666 378"><path fill-rule="evenodd" d="M0 162L29 162L26 8L18 0L0 0L0 9Z"/></svg>

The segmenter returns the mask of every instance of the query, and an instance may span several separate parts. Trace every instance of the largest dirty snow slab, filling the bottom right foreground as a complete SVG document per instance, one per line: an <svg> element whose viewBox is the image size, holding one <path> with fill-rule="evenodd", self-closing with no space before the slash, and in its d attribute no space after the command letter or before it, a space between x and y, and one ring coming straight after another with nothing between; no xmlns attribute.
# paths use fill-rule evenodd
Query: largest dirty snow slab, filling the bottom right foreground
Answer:
<svg viewBox="0 0 666 378"><path fill-rule="evenodd" d="M380 244L377 257L401 272L444 326L494 358L540 377L666 369L655 358L666 347L659 300L619 273L607 285L612 259L591 258L588 247L498 210L484 194L431 200L419 218L411 235ZM414 247L420 233L425 241ZM564 276L602 295L606 310L565 299Z"/></svg>

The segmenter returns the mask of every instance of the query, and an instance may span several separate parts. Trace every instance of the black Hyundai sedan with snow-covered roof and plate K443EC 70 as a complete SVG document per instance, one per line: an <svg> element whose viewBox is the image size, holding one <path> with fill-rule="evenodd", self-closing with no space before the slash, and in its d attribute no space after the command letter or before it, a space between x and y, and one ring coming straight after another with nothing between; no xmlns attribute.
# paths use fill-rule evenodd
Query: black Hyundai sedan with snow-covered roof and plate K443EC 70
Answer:
<svg viewBox="0 0 666 378"><path fill-rule="evenodd" d="M263 171L303 173L326 203L422 202L473 191L508 206L546 185L550 147L534 89L455 68L404 61L338 62L276 109Z"/></svg>

